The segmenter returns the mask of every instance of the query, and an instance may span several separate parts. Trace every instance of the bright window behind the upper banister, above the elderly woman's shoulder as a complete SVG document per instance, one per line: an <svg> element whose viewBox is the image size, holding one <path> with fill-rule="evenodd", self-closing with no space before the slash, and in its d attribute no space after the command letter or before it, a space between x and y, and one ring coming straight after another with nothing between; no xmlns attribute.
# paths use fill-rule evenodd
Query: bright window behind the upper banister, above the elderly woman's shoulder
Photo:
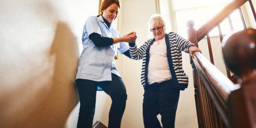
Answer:
<svg viewBox="0 0 256 128"><path fill-rule="evenodd" d="M177 32L187 38L187 21L193 20L198 29L214 15L220 12L232 0L160 0L161 14L171 24L171 31ZM235 31L243 30L239 11L231 14L231 20ZM220 24L222 34L231 32L228 19ZM213 29L210 36L219 35L218 29Z"/></svg>

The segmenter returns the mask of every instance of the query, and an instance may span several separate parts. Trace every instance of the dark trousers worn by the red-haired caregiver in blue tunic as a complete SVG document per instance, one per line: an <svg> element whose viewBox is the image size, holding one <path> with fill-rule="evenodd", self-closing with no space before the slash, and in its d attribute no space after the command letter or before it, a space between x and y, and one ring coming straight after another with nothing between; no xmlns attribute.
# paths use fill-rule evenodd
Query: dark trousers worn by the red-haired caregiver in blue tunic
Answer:
<svg viewBox="0 0 256 128"><path fill-rule="evenodd" d="M127 94L122 78L115 74L111 74L111 76L112 81L96 82L86 79L76 80L80 98L77 128L92 128L97 86L100 86L112 99L108 115L108 128L120 128Z"/></svg>

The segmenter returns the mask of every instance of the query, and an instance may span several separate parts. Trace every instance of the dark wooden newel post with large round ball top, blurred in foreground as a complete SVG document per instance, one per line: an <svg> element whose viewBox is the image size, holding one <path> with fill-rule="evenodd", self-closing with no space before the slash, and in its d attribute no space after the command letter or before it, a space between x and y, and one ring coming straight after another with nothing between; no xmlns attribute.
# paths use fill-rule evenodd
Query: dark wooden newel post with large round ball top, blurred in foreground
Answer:
<svg viewBox="0 0 256 128"><path fill-rule="evenodd" d="M232 128L256 128L256 30L245 29L222 42L227 67L241 80L228 98Z"/></svg>

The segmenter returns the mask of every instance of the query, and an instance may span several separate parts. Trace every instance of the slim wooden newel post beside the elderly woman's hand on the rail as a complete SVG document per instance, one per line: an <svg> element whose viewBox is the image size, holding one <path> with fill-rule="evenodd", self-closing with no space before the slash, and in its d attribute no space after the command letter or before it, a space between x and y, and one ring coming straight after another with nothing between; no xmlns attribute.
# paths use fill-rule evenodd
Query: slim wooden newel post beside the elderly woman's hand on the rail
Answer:
<svg viewBox="0 0 256 128"><path fill-rule="evenodd" d="M198 47L196 29L194 28L194 26L195 26L194 21L193 20L188 20L188 22L187 22L188 40L190 42L194 43ZM198 76L195 64L193 63L193 60L192 60L191 57L190 57L190 63L191 63L191 66L193 68L195 101L196 101L196 114L197 114L198 127L199 128L204 128L202 103L201 103L201 98L200 98L200 91L199 91L199 88L198 88L199 76Z"/></svg>

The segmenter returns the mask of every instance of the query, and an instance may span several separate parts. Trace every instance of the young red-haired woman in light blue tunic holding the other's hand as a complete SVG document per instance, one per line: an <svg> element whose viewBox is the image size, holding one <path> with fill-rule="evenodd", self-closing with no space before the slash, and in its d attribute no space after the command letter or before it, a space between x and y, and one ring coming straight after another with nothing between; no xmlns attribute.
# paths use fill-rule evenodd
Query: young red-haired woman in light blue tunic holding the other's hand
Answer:
<svg viewBox="0 0 256 128"><path fill-rule="evenodd" d="M133 42L136 35L131 32L121 36L111 26L120 10L119 0L104 0L100 10L100 15L89 17L84 25L84 49L76 74L80 98L77 128L92 127L98 86L112 99L108 128L120 128L127 99L123 80L113 62L117 50L113 44L126 46L124 42ZM119 52L130 56L129 46L119 49Z"/></svg>

